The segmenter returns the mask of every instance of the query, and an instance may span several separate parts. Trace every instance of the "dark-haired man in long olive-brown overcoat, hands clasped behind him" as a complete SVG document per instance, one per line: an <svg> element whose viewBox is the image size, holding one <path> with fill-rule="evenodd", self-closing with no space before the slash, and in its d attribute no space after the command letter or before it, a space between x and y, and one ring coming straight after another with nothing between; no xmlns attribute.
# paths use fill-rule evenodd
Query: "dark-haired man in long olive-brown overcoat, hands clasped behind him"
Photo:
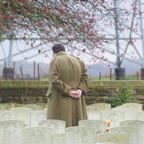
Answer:
<svg viewBox="0 0 144 144"><path fill-rule="evenodd" d="M85 94L89 76L84 63L65 53L61 44L52 47L53 59L49 67L48 119L66 121L66 127L77 126L87 119Z"/></svg>

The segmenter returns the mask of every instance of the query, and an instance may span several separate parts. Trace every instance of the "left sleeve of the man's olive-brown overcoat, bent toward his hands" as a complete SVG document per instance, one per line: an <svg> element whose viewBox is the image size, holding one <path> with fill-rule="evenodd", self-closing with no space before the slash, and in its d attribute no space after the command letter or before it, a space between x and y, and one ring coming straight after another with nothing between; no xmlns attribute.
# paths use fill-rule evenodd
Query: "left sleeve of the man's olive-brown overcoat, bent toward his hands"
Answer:
<svg viewBox="0 0 144 144"><path fill-rule="evenodd" d="M50 74L50 79L51 79L51 82L52 82L52 86L57 91L59 91L60 93L65 93L65 94L69 95L69 93L71 91L71 87L60 80L56 60L55 60L55 62L53 62L53 66L52 66L50 71L51 71L50 72L51 73Z"/></svg>

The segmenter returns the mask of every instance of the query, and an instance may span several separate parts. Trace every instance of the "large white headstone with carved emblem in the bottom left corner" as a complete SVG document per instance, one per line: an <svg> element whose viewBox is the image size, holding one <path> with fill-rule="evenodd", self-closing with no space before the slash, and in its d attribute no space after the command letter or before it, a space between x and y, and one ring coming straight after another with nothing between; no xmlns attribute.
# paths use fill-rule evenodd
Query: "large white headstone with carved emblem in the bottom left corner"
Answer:
<svg viewBox="0 0 144 144"><path fill-rule="evenodd" d="M23 144L25 123L17 120L0 122L0 144Z"/></svg>

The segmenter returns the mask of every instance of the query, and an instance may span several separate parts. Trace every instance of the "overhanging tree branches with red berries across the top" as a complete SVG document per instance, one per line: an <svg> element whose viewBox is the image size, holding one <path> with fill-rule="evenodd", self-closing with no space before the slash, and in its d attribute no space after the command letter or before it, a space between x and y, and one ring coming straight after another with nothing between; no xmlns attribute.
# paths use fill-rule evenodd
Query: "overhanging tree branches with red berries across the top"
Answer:
<svg viewBox="0 0 144 144"><path fill-rule="evenodd" d="M57 41L71 54L87 52L92 55L90 61L107 61L106 51L115 54L116 45L122 57L126 46L136 42L136 33L143 31L139 27L141 4L138 0L1 0L0 37L21 39L31 47L37 39L41 43Z"/></svg>

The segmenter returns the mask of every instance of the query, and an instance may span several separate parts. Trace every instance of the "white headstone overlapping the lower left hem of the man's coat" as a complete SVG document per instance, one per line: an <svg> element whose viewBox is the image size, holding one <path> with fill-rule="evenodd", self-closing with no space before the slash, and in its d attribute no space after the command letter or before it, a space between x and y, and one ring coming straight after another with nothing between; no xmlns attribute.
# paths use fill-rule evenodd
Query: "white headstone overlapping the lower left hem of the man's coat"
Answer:
<svg viewBox="0 0 144 144"><path fill-rule="evenodd" d="M39 126L51 128L52 134L65 133L66 122L61 120L46 120L39 123Z"/></svg>

